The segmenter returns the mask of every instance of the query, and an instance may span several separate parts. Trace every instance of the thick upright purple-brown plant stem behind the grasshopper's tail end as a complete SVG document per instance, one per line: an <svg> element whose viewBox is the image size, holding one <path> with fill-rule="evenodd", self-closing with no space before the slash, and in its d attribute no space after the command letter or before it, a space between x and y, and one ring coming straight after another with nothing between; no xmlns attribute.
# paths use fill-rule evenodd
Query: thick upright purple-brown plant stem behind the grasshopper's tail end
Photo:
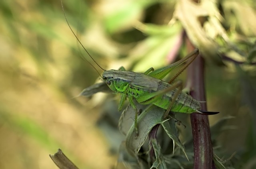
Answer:
<svg viewBox="0 0 256 169"><path fill-rule="evenodd" d="M188 52L194 49L191 42L186 39ZM205 101L204 90L204 59L201 55L188 67L188 84L190 84L191 96L199 101ZM201 103L203 111L206 111L206 103ZM208 116L201 114L190 114L194 141L194 168L195 169L214 169L213 150L210 134Z"/></svg>

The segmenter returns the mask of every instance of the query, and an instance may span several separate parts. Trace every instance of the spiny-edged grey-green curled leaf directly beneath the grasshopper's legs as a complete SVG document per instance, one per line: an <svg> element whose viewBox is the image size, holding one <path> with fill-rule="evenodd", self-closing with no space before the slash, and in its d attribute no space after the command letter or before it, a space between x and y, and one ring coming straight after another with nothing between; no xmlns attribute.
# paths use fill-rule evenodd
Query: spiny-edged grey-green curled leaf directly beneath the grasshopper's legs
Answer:
<svg viewBox="0 0 256 169"><path fill-rule="evenodd" d="M174 120L162 120L162 116L166 110L154 105L140 105L135 99L134 102L136 103L136 106L138 106L138 109L143 110L140 116L138 116L138 136L136 136L136 130L134 127L135 112L132 106L128 106L128 108L124 110L119 121L119 129L126 135L126 147L128 151L132 154L138 153L151 129L156 126L156 124L162 124L165 132L173 140L173 143L176 143L176 145L178 145L185 153L184 146L178 139L176 122Z"/></svg>

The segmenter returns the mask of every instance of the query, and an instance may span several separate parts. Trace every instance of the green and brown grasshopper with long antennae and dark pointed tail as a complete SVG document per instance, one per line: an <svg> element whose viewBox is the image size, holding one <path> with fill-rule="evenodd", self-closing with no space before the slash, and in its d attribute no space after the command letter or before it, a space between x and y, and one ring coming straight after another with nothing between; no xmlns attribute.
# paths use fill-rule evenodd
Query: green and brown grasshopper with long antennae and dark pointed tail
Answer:
<svg viewBox="0 0 256 169"><path fill-rule="evenodd" d="M64 12L63 4L62 10ZM85 49L85 47L82 45L82 43L80 42L72 28L70 27L65 12L64 16L70 30L72 31L80 45L89 55L89 57L98 65L98 63L88 53L88 51ZM138 109L134 104L133 98L135 98L139 104L154 104L160 108L165 109L166 112L164 113L164 118L168 116L169 111L188 114L198 113L205 115L218 113L200 111L200 102L192 98L190 95L181 91L182 83L180 81L172 84L173 81L178 77L178 75L180 75L180 73L182 73L182 71L184 71L188 67L188 65L192 63L192 61L194 61L198 54L199 50L195 49L194 51L192 51L192 53L188 54L186 57L184 57L180 61L177 61L176 63L173 63L166 67L162 67L157 70L154 70L151 67L144 73L126 71L124 67L120 67L120 69L118 70L105 70L102 67L100 67L100 65L98 65L98 67L100 67L100 69L104 71L102 73L102 76L90 62L88 62L85 58L84 59L90 65L92 65L92 67L94 67L94 69L98 72L103 81L105 81L105 83L112 91L121 94L121 100L118 105L119 111L122 109L126 97L128 97L130 105L134 108L135 111L134 126L136 128L136 134L138 134ZM162 81L162 79L166 75L168 75L170 71L185 63L186 61L188 61L188 63L186 63L182 67L182 69L180 69L180 71L178 71L178 73L168 83Z"/></svg>

